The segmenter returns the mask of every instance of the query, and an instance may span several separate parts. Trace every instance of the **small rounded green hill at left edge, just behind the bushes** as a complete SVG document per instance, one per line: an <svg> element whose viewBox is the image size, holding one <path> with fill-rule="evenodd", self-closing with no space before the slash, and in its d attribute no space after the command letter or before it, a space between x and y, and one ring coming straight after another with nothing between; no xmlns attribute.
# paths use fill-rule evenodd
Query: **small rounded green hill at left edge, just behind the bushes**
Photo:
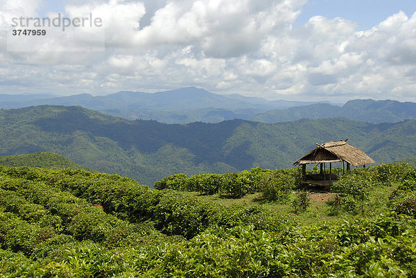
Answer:
<svg viewBox="0 0 416 278"><path fill-rule="evenodd" d="M10 155L0 157L1 166L9 167L43 167L60 170L64 168L85 168L58 153L31 153L27 155Z"/></svg>

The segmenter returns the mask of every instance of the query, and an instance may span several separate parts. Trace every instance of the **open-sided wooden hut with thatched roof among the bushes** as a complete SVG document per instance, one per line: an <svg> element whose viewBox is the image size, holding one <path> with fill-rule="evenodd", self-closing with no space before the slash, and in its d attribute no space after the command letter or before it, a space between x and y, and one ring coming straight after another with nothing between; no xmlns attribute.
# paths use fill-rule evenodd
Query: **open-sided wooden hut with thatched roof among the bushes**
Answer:
<svg viewBox="0 0 416 278"><path fill-rule="evenodd" d="M332 173L332 162L342 162L343 168L347 164L347 171L349 171L350 165L365 167L367 164L374 163L374 160L363 151L347 144L347 140L330 141L322 145L317 143L316 148L298 159L293 165L302 165L302 183L331 185L333 180L338 180L338 177ZM324 171L325 163L329 163L329 174ZM320 173L306 175L306 164L320 164Z"/></svg>

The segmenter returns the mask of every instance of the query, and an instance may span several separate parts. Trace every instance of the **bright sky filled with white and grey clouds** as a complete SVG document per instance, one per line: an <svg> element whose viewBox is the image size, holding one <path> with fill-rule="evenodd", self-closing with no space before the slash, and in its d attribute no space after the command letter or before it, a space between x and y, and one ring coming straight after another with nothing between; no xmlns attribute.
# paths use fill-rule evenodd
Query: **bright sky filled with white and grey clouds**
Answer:
<svg viewBox="0 0 416 278"><path fill-rule="evenodd" d="M195 86L272 100L416 101L415 12L415 0L0 0L0 94ZM12 35L26 27L16 19L58 15L102 24Z"/></svg>

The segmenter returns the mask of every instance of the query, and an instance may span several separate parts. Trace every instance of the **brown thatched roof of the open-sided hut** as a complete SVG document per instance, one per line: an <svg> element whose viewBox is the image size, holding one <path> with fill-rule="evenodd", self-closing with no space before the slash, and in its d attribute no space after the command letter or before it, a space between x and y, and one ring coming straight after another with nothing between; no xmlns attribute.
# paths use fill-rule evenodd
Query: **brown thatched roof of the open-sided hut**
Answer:
<svg viewBox="0 0 416 278"><path fill-rule="evenodd" d="M363 151L349 145L346 141L327 142L311 150L304 157L300 158L293 165L322 162L348 162L354 167L372 164L374 160Z"/></svg>

